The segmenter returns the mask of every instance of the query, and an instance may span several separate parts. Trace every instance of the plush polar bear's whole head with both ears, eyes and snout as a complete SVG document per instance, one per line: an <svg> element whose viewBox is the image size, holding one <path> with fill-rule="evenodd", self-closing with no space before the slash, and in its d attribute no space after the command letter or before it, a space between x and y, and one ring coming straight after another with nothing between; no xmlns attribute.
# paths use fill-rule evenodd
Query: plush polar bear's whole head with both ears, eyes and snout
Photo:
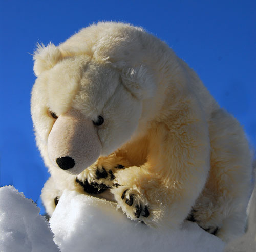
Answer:
<svg viewBox="0 0 256 252"><path fill-rule="evenodd" d="M154 96L148 66L113 61L106 50L100 57L103 45L94 46L93 54L38 45L31 113L48 166L50 160L55 167L79 174L99 156L109 155L136 133L143 103Z"/></svg>

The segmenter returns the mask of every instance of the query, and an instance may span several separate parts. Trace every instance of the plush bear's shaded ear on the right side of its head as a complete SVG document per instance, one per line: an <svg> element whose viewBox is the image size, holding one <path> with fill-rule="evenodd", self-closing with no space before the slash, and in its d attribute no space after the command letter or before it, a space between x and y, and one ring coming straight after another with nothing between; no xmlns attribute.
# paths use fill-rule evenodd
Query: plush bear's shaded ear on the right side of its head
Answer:
<svg viewBox="0 0 256 252"><path fill-rule="evenodd" d="M146 66L123 68L121 79L124 86L139 100L153 97L156 90L154 78Z"/></svg>

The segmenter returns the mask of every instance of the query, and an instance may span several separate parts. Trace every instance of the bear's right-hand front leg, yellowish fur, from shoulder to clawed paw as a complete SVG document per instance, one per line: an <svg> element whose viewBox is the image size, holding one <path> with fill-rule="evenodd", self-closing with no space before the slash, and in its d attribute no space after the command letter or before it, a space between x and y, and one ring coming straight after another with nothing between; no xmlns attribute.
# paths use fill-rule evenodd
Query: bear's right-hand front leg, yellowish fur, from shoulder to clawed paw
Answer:
<svg viewBox="0 0 256 252"><path fill-rule="evenodd" d="M152 226L177 228L186 218L207 179L209 139L201 114L152 124L146 162L119 170L111 192L127 216ZM185 111L185 108L184 110ZM198 110L197 110L198 111ZM129 153L129 149L127 150Z"/></svg>

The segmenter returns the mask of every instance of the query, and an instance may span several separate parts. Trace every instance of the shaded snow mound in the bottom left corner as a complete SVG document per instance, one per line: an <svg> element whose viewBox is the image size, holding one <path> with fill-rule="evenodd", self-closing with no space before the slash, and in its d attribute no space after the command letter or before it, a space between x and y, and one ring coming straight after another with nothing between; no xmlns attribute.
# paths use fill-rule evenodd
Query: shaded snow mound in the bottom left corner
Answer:
<svg viewBox="0 0 256 252"><path fill-rule="evenodd" d="M13 186L0 188L0 251L57 252L53 234L39 208Z"/></svg>

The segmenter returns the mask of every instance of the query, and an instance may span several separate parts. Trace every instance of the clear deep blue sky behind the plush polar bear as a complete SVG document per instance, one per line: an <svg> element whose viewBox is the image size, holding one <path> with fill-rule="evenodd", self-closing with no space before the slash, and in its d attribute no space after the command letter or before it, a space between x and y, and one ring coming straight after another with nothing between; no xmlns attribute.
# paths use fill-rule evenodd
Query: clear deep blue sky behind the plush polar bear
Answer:
<svg viewBox="0 0 256 252"><path fill-rule="evenodd" d="M37 42L59 44L97 21L142 26L193 68L256 146L255 1L0 0L0 185L41 206L48 178L30 118ZM44 210L42 210L44 211Z"/></svg>

